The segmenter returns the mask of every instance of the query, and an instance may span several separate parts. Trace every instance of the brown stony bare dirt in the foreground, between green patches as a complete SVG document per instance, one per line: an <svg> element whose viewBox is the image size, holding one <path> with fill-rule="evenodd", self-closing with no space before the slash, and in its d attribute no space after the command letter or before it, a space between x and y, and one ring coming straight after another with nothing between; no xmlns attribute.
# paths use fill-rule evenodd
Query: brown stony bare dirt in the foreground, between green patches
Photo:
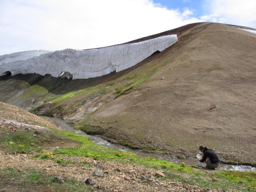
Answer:
<svg viewBox="0 0 256 192"><path fill-rule="evenodd" d="M0 102L0 132L1 136L7 132L15 131L15 129L21 129L26 131L29 124L46 124L55 129L60 129L56 125L52 124L43 118L29 114L27 111ZM29 129L40 130L44 132L47 129L40 126L29 125ZM45 129L45 130L43 130ZM49 143L41 143L40 145L49 148L51 154L56 147L76 147L74 141L63 141L54 139ZM200 188L198 186L191 186L189 184L183 184L181 182L162 181L157 175L156 170L145 168L144 166L138 166L136 164L120 164L110 161L95 161L88 157L68 157L66 160L76 162L86 162L89 166L83 167L81 164L68 164L62 166L56 163L55 160L43 160L31 158L35 154L20 154L10 153L0 150L0 170L6 168L13 168L17 173L26 172L28 168L36 168L43 170L45 175L48 176L61 176L63 179L75 179L81 182L85 182L86 179L92 179L94 184L92 189L88 191L222 191L222 189L207 189ZM103 173L102 177L93 176L95 170ZM207 172L207 170L204 170ZM209 170L209 175L214 175L214 170ZM1 182L3 175L0 174L0 191L52 191L47 186L27 186L24 188L22 184L15 184L13 180L5 180ZM22 179L22 178L21 178ZM211 177L204 177L203 180L209 180L212 182ZM65 181L64 181L65 182ZM54 190L53 190L54 191ZM236 191L236 190L230 190Z"/></svg>

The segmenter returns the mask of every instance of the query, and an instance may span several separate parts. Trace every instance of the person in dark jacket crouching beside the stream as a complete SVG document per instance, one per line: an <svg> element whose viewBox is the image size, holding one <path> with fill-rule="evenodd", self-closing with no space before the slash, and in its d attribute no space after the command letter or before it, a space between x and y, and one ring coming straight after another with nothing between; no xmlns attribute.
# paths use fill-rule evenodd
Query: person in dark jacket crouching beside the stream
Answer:
<svg viewBox="0 0 256 192"><path fill-rule="evenodd" d="M206 168L214 170L219 166L220 160L217 154L213 150L207 147L204 147L202 145L199 147L199 150L200 152L202 152L202 156L203 156L202 159L200 159L199 161L201 163L205 162Z"/></svg>

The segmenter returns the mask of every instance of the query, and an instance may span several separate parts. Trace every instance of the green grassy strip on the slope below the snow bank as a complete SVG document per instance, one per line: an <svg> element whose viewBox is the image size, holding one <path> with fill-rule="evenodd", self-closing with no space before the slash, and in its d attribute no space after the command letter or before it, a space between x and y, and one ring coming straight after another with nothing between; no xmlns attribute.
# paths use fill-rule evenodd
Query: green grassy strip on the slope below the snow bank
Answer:
<svg viewBox="0 0 256 192"><path fill-rule="evenodd" d="M51 92L53 89L51 84L46 84L44 86L33 85L22 95L26 98L31 98L31 95L33 95L33 98L44 100L44 102L51 102L51 105L47 105L47 108L44 108L44 104L42 104L42 106L35 106L35 108L30 110L31 113L44 111L44 115L47 116L56 114L60 117L71 115L76 113L78 108L83 107L88 102L96 105L99 102L108 101L110 95L116 98L120 97L120 95L132 92L132 90L145 82L148 77L152 76L157 70L166 65L167 62L168 60L162 61L161 63L148 63L148 65L143 66L140 70L134 70L106 83L90 84L81 90L64 94L61 93L62 89ZM58 94L58 92L60 92L60 94ZM22 95L20 96L22 100L26 100ZM90 116L90 113L85 115L86 118L88 116Z"/></svg>

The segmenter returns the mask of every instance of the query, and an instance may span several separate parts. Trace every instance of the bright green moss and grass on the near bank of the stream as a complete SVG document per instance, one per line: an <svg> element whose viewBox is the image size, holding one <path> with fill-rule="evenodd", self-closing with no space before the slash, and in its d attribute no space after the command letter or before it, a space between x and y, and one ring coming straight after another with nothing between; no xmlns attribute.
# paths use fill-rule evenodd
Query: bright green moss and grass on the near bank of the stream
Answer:
<svg viewBox="0 0 256 192"><path fill-rule="evenodd" d="M3 132L2 132L3 133ZM0 147L6 152L22 152L26 154L35 154L33 158L44 161L54 161L62 166L81 164L84 167L90 167L86 162L86 158L94 160L115 161L116 163L130 163L154 168L165 173L165 177L161 180L171 180L185 182L196 186L202 186L211 189L251 189L256 188L256 173L255 172L231 172L218 171L217 173L209 173L204 170L198 170L185 163L173 164L169 161L155 159L153 157L140 157L131 152L113 150L107 147L102 147L92 143L88 138L70 131L49 131L36 134L35 131L22 129L17 131L8 131L3 134L0 140ZM74 143L76 147L48 147L56 141ZM35 145L30 145L35 143ZM51 146L51 145L50 145ZM74 161L70 157L82 157L83 160ZM5 168L0 170L2 175L1 182L13 182L18 188L36 188L38 186L47 186L51 190L56 188L56 191L63 189L76 189L76 191L84 189L84 184L76 180L67 180L65 184L56 186L54 177L46 176L43 170L34 168L26 168L22 172L17 172L13 168ZM90 187L86 186L86 189Z"/></svg>

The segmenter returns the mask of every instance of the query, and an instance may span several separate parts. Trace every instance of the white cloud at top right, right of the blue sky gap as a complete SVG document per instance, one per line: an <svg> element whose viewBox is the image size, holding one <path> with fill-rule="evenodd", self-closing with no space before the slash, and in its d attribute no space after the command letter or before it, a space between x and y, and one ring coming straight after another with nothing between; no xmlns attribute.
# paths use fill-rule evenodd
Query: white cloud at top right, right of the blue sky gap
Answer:
<svg viewBox="0 0 256 192"><path fill-rule="evenodd" d="M201 19L256 28L255 0L207 0L205 10Z"/></svg>

